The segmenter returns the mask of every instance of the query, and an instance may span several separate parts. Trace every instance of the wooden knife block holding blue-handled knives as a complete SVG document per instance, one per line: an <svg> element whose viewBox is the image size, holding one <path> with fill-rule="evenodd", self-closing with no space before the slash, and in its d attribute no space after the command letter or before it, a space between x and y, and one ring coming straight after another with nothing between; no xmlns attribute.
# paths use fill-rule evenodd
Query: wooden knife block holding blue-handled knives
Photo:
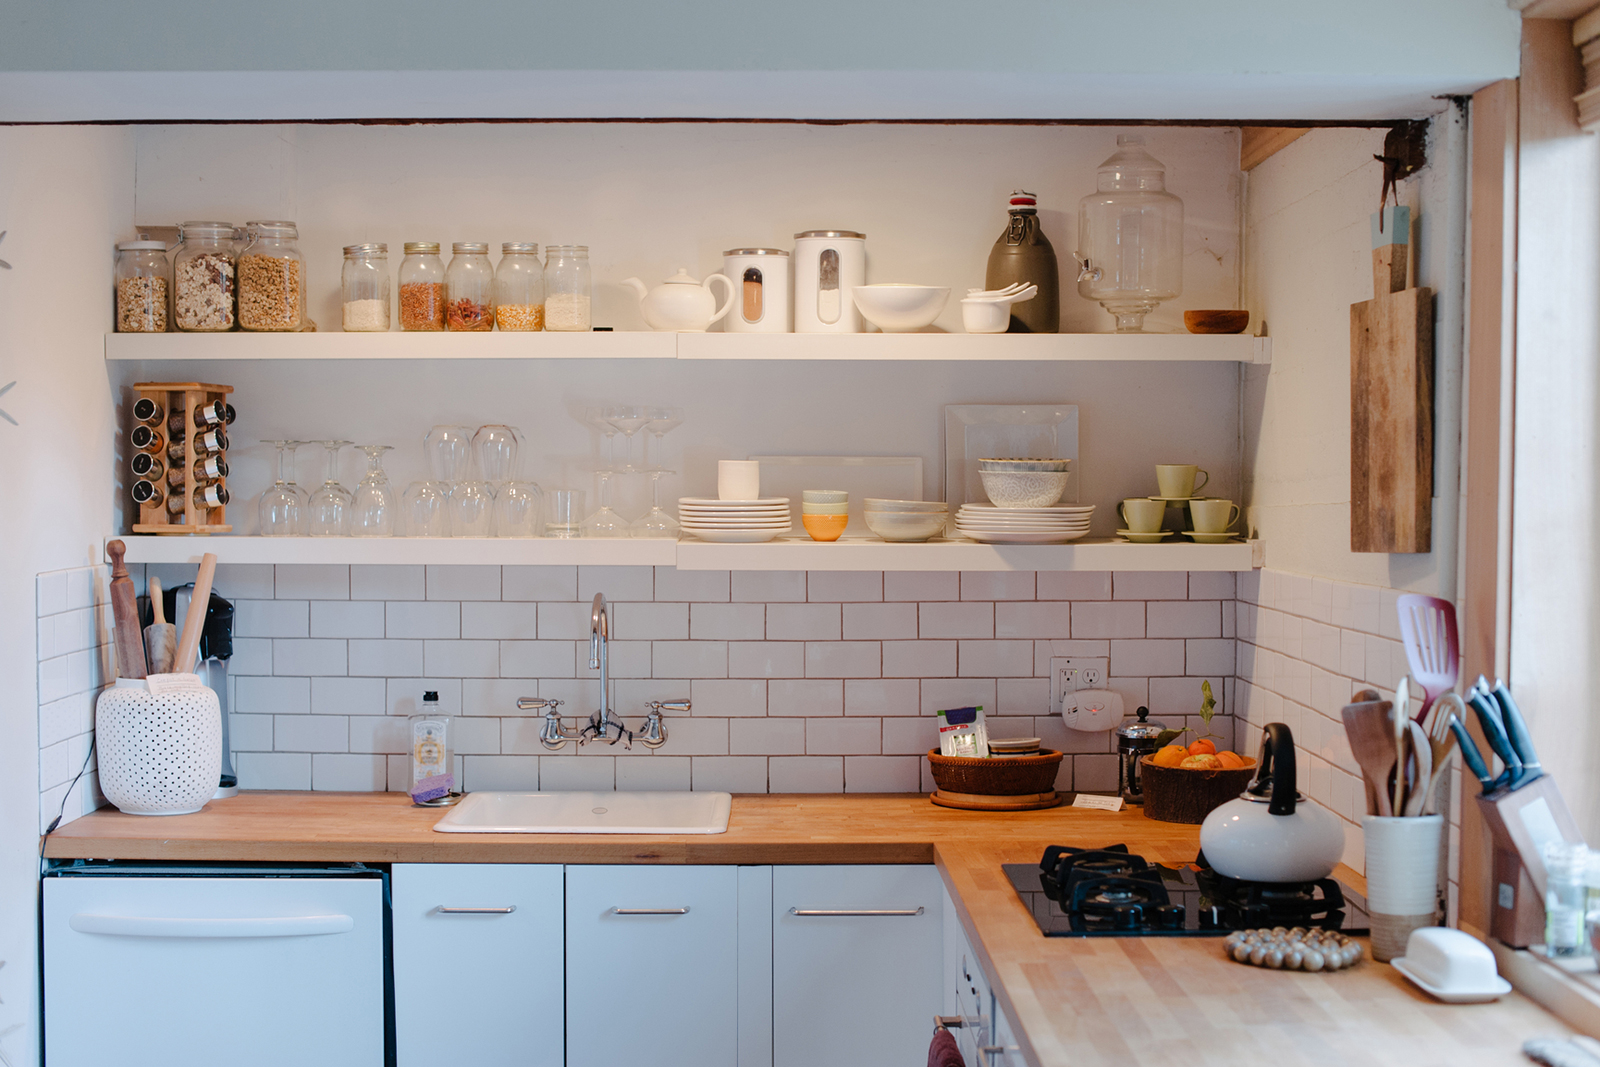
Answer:
<svg viewBox="0 0 1600 1067"><path fill-rule="evenodd" d="M1494 837L1490 936L1526 949L1544 941L1544 845L1582 841L1555 779L1546 774L1518 790L1499 789L1477 798Z"/></svg>

